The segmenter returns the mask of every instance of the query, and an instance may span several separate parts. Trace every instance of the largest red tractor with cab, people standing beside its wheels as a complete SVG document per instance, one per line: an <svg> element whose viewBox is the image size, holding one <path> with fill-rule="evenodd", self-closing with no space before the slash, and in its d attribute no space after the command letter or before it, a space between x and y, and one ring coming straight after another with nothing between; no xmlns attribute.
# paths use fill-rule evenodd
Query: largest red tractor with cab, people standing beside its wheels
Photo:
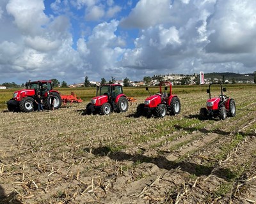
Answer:
<svg viewBox="0 0 256 204"><path fill-rule="evenodd" d="M52 90L51 80L39 80L35 82L26 82L26 89L15 91L13 98L7 102L9 111L15 112L33 112L36 110L35 97L40 94L40 98L44 100L44 108L51 109L51 98L49 94L54 96L54 109L61 106L61 97L58 91Z"/></svg>

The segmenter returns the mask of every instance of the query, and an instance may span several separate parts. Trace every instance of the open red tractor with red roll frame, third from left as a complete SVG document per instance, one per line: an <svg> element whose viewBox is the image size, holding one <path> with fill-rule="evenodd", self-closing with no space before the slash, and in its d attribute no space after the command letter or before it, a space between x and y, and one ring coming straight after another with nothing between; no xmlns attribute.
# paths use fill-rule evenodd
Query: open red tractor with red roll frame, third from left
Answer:
<svg viewBox="0 0 256 204"><path fill-rule="evenodd" d="M162 92L162 86L164 86L164 92ZM170 87L170 92L167 92L168 86ZM145 103L138 105L136 112L137 117L141 115L146 117L151 117L151 115L164 117L167 113L170 115L180 113L180 100L178 96L172 95L172 83L160 82L159 89L159 93L152 96L150 95L145 99ZM146 90L148 91L148 87L146 87Z"/></svg>

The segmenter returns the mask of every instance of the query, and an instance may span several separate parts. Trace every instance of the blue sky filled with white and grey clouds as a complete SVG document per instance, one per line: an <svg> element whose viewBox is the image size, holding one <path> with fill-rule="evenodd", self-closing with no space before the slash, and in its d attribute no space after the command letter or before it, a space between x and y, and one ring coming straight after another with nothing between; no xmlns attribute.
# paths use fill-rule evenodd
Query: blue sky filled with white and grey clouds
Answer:
<svg viewBox="0 0 256 204"><path fill-rule="evenodd" d="M255 0L2 0L0 84L253 73L255 11Z"/></svg>

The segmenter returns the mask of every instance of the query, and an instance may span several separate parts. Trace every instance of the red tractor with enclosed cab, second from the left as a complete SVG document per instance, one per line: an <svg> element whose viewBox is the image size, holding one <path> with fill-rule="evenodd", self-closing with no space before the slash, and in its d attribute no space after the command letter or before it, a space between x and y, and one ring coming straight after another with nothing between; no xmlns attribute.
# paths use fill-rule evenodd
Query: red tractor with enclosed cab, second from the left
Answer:
<svg viewBox="0 0 256 204"><path fill-rule="evenodd" d="M99 92L99 96L98 96ZM128 99L123 94L123 87L120 84L104 84L97 87L97 94L92 98L92 103L86 106L88 115L100 113L108 115L112 111L126 112L128 110Z"/></svg>

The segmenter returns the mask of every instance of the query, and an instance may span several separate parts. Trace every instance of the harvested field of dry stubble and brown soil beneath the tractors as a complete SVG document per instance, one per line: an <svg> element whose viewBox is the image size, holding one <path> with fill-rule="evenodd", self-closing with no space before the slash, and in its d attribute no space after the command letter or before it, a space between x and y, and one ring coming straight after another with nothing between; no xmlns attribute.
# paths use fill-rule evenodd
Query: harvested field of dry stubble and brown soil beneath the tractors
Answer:
<svg viewBox="0 0 256 204"><path fill-rule="evenodd" d="M226 120L198 119L205 92L163 119L1 110L0 203L256 203L256 89L227 95Z"/></svg>

